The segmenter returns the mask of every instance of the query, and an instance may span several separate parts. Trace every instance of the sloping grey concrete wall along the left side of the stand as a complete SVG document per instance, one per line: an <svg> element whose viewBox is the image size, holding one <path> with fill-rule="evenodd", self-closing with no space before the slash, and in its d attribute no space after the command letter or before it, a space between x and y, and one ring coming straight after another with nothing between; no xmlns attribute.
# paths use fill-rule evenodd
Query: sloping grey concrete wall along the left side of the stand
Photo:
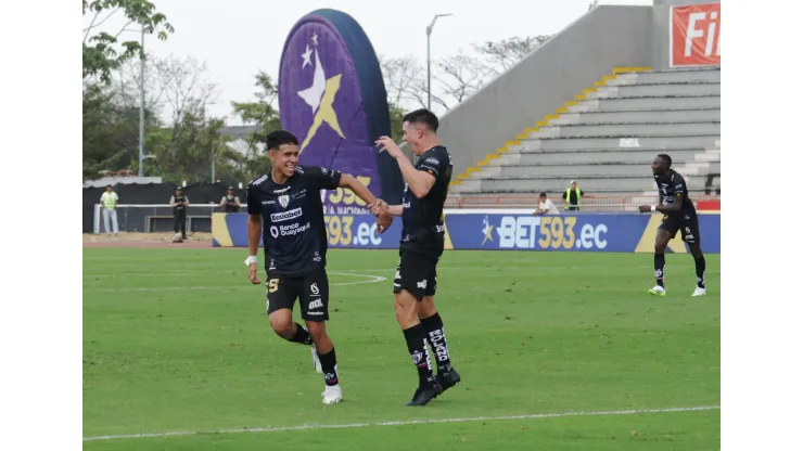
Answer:
<svg viewBox="0 0 803 451"><path fill-rule="evenodd" d="M455 177L515 139L614 67L650 66L652 7L600 5L441 119Z"/></svg>

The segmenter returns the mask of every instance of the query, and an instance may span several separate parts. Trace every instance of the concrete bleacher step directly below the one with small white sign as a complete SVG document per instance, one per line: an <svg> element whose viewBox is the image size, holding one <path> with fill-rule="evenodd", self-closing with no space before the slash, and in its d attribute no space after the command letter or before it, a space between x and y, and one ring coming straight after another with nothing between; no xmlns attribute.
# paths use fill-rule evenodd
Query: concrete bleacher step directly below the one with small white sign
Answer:
<svg viewBox="0 0 803 451"><path fill-rule="evenodd" d="M643 163L652 164L658 154L666 153L675 162L717 162L719 160L718 151L706 151L705 149L675 149L666 151L665 149L638 149L624 151L600 151L600 150L576 150L574 152L539 152L539 153L508 153L502 154L499 158L492 159L488 166L511 166L511 165L582 165L588 163Z"/></svg>

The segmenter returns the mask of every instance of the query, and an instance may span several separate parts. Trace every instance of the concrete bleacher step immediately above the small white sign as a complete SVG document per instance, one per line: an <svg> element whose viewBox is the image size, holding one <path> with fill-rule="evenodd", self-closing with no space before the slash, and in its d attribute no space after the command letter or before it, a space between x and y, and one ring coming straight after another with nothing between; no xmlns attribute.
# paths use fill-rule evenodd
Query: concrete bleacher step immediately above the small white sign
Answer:
<svg viewBox="0 0 803 451"><path fill-rule="evenodd" d="M699 137L719 134L719 123L577 125L541 127L530 138Z"/></svg>

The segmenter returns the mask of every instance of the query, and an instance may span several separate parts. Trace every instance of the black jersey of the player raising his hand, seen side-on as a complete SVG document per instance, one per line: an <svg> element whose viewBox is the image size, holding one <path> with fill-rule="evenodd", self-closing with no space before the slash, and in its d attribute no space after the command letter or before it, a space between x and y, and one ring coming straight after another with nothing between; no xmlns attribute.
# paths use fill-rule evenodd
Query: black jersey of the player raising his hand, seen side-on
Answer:
<svg viewBox="0 0 803 451"><path fill-rule="evenodd" d="M435 177L435 184L418 198L405 183L399 248L439 257L444 252L443 212L451 182L451 155L443 145L436 145L421 155L416 169Z"/></svg>

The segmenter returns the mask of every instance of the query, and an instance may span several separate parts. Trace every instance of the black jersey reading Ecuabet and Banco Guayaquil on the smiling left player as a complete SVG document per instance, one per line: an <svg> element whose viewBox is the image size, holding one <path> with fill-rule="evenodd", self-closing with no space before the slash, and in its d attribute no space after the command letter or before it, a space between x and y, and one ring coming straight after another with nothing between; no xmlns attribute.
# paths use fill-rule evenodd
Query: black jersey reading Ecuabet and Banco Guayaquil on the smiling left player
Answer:
<svg viewBox="0 0 803 451"><path fill-rule="evenodd" d="M284 184L266 173L248 183L248 215L263 217L265 269L269 274L303 275L327 265L327 227L320 190L335 190L341 173L320 166L296 166Z"/></svg>

